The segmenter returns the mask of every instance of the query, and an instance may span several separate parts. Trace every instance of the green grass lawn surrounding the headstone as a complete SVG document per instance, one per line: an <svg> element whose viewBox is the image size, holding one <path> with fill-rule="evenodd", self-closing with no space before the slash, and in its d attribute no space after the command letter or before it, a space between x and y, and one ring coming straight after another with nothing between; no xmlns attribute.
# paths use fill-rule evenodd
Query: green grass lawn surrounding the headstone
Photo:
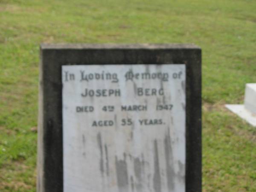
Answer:
<svg viewBox="0 0 256 192"><path fill-rule="evenodd" d="M40 43L202 48L203 191L256 191L256 128L224 108L256 82L253 0L0 0L0 191L36 185Z"/></svg>

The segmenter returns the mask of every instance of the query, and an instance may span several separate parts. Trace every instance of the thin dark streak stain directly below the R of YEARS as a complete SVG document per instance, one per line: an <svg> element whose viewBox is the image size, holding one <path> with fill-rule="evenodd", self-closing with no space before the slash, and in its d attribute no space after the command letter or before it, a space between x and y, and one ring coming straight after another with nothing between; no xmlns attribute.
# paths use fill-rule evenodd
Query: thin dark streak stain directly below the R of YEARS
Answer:
<svg viewBox="0 0 256 192"><path fill-rule="evenodd" d="M157 149L157 140L154 140L154 176L153 176L153 186L155 192L161 192L161 175L159 166L159 157Z"/></svg>

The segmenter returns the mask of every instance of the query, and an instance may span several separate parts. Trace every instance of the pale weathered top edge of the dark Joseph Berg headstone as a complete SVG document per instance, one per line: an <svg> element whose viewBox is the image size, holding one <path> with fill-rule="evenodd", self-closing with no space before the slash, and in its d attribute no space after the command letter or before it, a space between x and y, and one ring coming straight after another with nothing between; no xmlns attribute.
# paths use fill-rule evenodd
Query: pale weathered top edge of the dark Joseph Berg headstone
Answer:
<svg viewBox="0 0 256 192"><path fill-rule="evenodd" d="M41 44L41 49L201 49L195 44Z"/></svg>

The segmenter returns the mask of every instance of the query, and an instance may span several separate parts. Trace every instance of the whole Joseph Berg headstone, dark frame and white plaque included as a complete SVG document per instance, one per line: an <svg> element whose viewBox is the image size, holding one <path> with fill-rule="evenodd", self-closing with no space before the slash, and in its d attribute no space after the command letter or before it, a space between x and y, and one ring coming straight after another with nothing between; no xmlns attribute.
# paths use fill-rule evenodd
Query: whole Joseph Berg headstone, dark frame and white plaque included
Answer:
<svg viewBox="0 0 256 192"><path fill-rule="evenodd" d="M43 44L38 192L201 191L201 49Z"/></svg>

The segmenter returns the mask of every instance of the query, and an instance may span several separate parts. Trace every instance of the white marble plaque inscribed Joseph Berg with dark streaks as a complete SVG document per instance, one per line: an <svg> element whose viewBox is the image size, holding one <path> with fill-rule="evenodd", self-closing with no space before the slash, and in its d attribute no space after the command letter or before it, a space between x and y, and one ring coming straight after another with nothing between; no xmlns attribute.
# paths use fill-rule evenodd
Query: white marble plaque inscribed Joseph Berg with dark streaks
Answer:
<svg viewBox="0 0 256 192"><path fill-rule="evenodd" d="M185 192L185 68L62 66L64 192Z"/></svg>

